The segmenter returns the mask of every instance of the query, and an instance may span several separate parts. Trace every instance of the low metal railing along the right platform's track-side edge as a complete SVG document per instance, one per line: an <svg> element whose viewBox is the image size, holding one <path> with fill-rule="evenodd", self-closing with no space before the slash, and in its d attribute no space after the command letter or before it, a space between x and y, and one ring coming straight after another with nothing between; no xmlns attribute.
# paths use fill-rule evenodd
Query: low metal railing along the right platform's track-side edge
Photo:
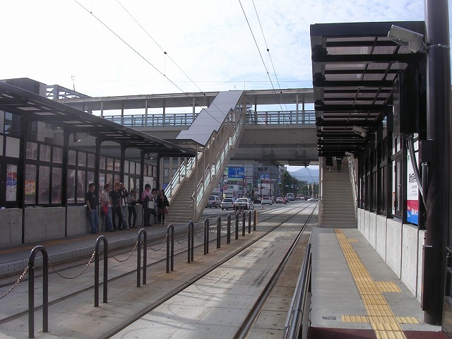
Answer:
<svg viewBox="0 0 452 339"><path fill-rule="evenodd" d="M307 338L311 304L311 243L306 247L302 270L299 273L295 292L284 326L285 339Z"/></svg>

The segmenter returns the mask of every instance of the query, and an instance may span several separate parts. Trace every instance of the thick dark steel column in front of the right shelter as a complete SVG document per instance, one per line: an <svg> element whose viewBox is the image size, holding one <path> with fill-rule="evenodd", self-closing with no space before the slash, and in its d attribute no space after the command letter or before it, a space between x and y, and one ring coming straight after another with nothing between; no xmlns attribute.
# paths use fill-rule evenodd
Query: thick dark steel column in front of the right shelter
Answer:
<svg viewBox="0 0 452 339"><path fill-rule="evenodd" d="M427 49L427 139L432 162L427 181L422 309L426 323L441 324L446 244L451 201L451 52L448 1L425 0Z"/></svg>

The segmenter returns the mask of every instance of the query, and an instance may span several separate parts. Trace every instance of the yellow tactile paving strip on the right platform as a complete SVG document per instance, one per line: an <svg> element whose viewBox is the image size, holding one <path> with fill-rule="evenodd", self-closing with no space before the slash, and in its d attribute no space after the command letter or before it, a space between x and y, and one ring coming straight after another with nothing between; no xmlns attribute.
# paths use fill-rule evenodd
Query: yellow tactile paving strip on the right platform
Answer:
<svg viewBox="0 0 452 339"><path fill-rule="evenodd" d="M335 229L334 232L368 314L367 316L343 316L342 320L369 322L377 339L406 339L400 323L417 323L417 319L395 316L382 293L400 292L398 286L392 282L374 281L350 245L350 239L347 239L340 229Z"/></svg>

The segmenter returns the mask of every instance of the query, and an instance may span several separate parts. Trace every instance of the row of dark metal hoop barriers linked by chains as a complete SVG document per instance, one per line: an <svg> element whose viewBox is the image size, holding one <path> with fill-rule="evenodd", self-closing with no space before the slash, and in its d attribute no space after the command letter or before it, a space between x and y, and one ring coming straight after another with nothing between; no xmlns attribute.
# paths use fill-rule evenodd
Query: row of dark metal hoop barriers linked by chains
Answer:
<svg viewBox="0 0 452 339"><path fill-rule="evenodd" d="M254 223L254 230L256 230L256 223L257 223L257 211L254 210L254 214L251 213L251 211L248 211L246 218L246 213L244 211L237 211L236 212L236 225L235 225L235 235L236 239L239 237L239 227L242 227L242 237L245 236L245 230L246 230L246 220L248 220L248 232L251 233L251 223ZM252 215L254 215L254 218L252 218ZM239 218L242 216L242 218ZM223 230L226 230L227 234L227 244L230 244L230 235L231 235L231 215L227 215L227 225L223 228L222 221L220 216L217 218L217 225L216 227L213 227L210 229L209 227L210 222L208 219L206 219L204 224L204 248L205 253L208 254L208 242L209 242L209 234L210 233L217 233L216 234L216 244L217 249L221 248L221 237L224 236L222 234ZM186 235L182 237L182 242L179 242L179 244L183 244L184 241L187 241L187 253L188 253L188 262L194 261L194 238L198 237L195 232L194 228L194 222L189 222L189 227L186 232ZM146 284L146 267L148 266L147 263L147 256L148 251L147 249L153 249L153 251L160 251L163 247L163 245L167 244L167 273L174 270L174 226L172 224L169 224L167 227L167 236L165 237L165 240L160 246L159 249L153 249L152 246L148 245L148 239L147 239L147 232L142 228L138 232L137 241L133 246L133 249L131 253L125 258L125 259L119 259L116 256L112 254L112 252L109 250L107 237L100 235L97 237L95 242L95 249L93 251L93 254L90 256L90 259L88 263L85 265L85 267L81 270L80 273L73 277L67 277L62 275L56 268L52 266L52 263L49 261L49 256L47 254L47 250L44 248L44 246L35 246L34 249L32 249L30 258L28 260L28 266L25 268L24 272L20 275L20 278L17 280L17 282L11 287L8 292L6 292L3 296L0 297L0 299L3 299L4 297L8 296L11 291L20 283L20 281L24 278L25 274L29 273L29 279L28 279L28 335L29 338L35 338L35 256L38 252L42 252L42 331L48 332L49 331L49 302L48 302L48 295L49 295L49 270L48 267L52 267L54 270L54 273L57 273L60 278L64 278L67 280L73 280L75 278L78 278L81 276L82 273L85 272L85 270L90 266L90 263L95 261L95 268L94 268L94 307L99 307L99 278L100 278L100 246L103 245L103 260L104 260L104 266L103 266L103 302L106 304L108 295L107 295L107 287L108 287L108 267L109 267L109 259L113 258L114 260L118 261L119 263L123 263L131 258L131 256L135 253L137 255L136 258L136 283L137 287L140 287L141 283L143 285ZM141 246L143 242L143 254L141 251ZM143 259L142 259L143 258ZM142 263L141 263L142 262ZM143 277L141 280L141 270L143 272Z"/></svg>

